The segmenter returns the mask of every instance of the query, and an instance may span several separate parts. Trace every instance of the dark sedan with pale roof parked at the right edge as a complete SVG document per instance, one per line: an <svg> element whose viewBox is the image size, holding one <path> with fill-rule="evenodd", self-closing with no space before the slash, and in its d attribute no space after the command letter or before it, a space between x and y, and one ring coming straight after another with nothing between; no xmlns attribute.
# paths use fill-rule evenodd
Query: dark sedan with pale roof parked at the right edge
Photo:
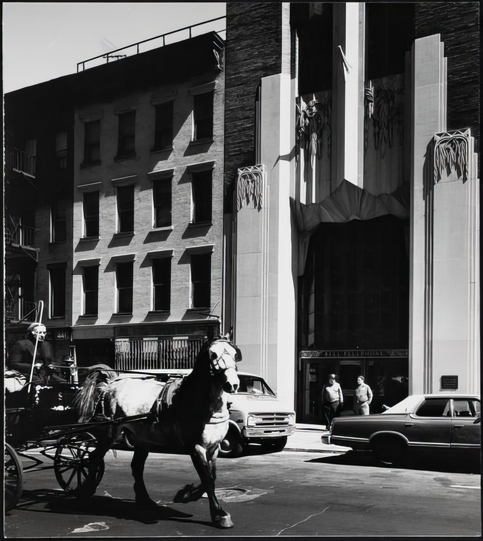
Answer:
<svg viewBox="0 0 483 541"><path fill-rule="evenodd" d="M479 395L413 394L383 413L338 417L322 442L371 450L385 464L409 454L479 460Z"/></svg>

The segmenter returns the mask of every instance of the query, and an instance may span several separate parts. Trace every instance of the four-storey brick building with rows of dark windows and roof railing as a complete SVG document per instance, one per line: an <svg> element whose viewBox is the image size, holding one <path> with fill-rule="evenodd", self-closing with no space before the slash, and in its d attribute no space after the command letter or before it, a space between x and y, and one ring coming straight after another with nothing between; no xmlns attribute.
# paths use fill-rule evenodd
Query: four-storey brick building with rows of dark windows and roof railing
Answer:
<svg viewBox="0 0 483 541"><path fill-rule="evenodd" d="M184 367L220 332L223 64L208 32L6 96L12 146L23 105L51 103L29 108L29 137L35 296L57 357L74 344L81 366Z"/></svg>

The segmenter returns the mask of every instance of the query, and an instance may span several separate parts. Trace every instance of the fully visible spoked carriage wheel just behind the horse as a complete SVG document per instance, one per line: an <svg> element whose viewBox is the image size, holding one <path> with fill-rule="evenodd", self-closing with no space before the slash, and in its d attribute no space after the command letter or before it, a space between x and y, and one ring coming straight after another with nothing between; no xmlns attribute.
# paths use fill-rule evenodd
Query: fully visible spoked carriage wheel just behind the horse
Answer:
<svg viewBox="0 0 483 541"><path fill-rule="evenodd" d="M62 489L68 494L79 489L87 478L90 456L95 450L97 440L88 432L63 437L57 442L54 457L55 477ZM104 459L97 466L95 488L104 475Z"/></svg>

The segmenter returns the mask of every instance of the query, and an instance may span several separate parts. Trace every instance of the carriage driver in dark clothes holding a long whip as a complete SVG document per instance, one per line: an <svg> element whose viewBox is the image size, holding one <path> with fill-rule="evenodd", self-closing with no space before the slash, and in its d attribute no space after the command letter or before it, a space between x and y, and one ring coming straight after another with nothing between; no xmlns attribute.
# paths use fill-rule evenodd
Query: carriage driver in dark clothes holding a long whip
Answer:
<svg viewBox="0 0 483 541"><path fill-rule="evenodd" d="M18 340L10 349L9 365L11 370L16 370L30 378L32 360L34 359L35 342L38 336L37 352L35 355L34 374L32 381L45 382L50 375L50 381L63 381L59 375L54 374L54 359L52 346L45 341L47 329L41 323L32 323L25 333L23 340Z"/></svg>

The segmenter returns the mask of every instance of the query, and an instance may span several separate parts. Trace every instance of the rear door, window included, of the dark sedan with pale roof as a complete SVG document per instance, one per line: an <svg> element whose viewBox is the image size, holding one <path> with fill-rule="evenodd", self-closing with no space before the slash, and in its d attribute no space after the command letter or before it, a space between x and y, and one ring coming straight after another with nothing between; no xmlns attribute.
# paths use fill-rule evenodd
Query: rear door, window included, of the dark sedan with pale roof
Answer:
<svg viewBox="0 0 483 541"><path fill-rule="evenodd" d="M451 440L449 398L425 398L404 425L403 434L414 452L447 457Z"/></svg>

